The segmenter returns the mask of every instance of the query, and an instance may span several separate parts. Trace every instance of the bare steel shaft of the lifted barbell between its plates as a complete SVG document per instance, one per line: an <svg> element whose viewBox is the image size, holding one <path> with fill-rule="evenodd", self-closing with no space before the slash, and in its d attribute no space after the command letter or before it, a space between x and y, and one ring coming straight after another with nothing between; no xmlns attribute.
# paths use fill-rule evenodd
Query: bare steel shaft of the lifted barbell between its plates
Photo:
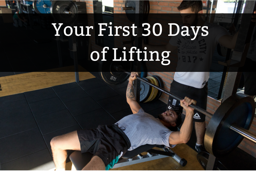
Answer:
<svg viewBox="0 0 256 171"><path fill-rule="evenodd" d="M126 71L125 69L123 69L121 66L117 66L117 67L116 67L116 70L117 70L117 71L123 71L123 72L125 72L126 74L131 75L130 72L127 72L127 71ZM137 78L138 80L140 80L140 81L142 81L142 82L145 82L145 83L149 84L150 86L152 86L152 87L154 87L154 88L156 88L156 89L158 89L158 90L164 92L165 94L167 94L167 95L169 95L169 96L172 96L172 97L173 97L174 99L176 99L176 100L179 100L179 101L180 101L180 100L183 100L183 98L180 98L179 96L176 96L176 95L174 95L174 94L172 94L172 93L166 91L165 89L162 89L161 87L158 87L158 86L156 86L155 84L152 84L151 82L148 82L148 81L146 81L146 80L140 78L139 76L137 76L136 78ZM206 116L209 116L210 118L212 118L212 116L213 116L212 113L209 113L209 112L205 111L204 109L202 109L202 108L200 108L200 107L198 107L198 106L196 106L196 105L191 104L191 105L189 105L189 107L192 107L193 109L196 109L198 112L201 112L201 113L205 114Z"/></svg>

